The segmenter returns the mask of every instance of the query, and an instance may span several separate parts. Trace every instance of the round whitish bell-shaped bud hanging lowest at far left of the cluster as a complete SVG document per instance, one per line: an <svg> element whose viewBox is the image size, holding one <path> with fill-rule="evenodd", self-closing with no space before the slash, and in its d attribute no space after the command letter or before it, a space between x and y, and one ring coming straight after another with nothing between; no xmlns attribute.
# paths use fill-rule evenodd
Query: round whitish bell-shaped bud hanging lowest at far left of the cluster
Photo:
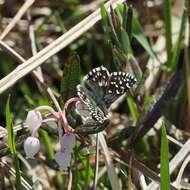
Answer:
<svg viewBox="0 0 190 190"><path fill-rule="evenodd" d="M33 159L40 150L40 141L36 137L28 137L24 142L24 151L27 158Z"/></svg>

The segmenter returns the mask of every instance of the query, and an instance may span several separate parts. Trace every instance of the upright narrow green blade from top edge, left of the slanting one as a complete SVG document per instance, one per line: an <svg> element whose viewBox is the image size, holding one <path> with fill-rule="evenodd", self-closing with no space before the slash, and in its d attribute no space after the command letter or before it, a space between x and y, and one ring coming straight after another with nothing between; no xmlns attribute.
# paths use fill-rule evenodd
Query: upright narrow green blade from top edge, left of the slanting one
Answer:
<svg viewBox="0 0 190 190"><path fill-rule="evenodd" d="M172 23L171 23L171 0L164 1L164 23L166 37L167 62L170 65L172 53Z"/></svg>

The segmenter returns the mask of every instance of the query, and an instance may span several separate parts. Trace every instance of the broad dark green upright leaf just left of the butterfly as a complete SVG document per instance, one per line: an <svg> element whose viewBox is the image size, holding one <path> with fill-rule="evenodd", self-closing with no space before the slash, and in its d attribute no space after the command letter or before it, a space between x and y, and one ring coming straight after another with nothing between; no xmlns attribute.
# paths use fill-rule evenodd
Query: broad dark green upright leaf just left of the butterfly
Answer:
<svg viewBox="0 0 190 190"><path fill-rule="evenodd" d="M77 54L66 61L61 78L62 103L76 94L76 86L80 81L80 59Z"/></svg>

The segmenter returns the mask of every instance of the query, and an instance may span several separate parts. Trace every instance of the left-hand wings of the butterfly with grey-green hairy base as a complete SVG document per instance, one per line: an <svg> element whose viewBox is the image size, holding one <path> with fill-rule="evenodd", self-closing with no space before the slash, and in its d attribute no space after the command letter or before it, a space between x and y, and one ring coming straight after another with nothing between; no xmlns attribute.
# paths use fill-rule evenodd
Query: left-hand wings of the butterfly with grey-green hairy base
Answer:
<svg viewBox="0 0 190 190"><path fill-rule="evenodd" d="M99 123L104 123L107 119L103 99L109 76L110 74L105 67L97 67L84 77L82 85L77 86L78 96L88 106L91 117Z"/></svg>

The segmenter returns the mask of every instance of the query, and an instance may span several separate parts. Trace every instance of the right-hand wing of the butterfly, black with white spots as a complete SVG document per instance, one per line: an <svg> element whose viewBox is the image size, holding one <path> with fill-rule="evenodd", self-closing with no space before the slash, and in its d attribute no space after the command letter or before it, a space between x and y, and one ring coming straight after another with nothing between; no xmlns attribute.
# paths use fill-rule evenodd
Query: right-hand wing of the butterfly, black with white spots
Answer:
<svg viewBox="0 0 190 190"><path fill-rule="evenodd" d="M107 86L107 93L104 97L107 107L109 107L117 98L123 95L128 89L137 82L133 75L124 72L113 72L110 75Z"/></svg>

